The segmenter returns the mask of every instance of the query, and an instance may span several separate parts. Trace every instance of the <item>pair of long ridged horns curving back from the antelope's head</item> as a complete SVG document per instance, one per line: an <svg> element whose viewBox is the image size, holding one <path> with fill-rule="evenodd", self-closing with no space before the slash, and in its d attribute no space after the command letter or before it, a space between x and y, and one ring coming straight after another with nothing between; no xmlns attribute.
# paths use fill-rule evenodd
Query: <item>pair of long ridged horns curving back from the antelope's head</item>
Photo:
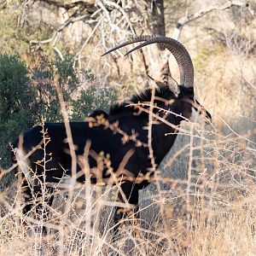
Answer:
<svg viewBox="0 0 256 256"><path fill-rule="evenodd" d="M128 51L125 55L130 54L134 50L140 49L148 44L161 44L164 48L168 49L177 61L177 66L180 72L180 85L185 87L193 87L194 85L194 67L193 62L190 58L188 50L173 38L166 38L160 36L141 36L132 38L124 44L108 50L104 55L112 52L115 49L124 47L125 45L146 41L143 44L139 44L137 47Z"/></svg>

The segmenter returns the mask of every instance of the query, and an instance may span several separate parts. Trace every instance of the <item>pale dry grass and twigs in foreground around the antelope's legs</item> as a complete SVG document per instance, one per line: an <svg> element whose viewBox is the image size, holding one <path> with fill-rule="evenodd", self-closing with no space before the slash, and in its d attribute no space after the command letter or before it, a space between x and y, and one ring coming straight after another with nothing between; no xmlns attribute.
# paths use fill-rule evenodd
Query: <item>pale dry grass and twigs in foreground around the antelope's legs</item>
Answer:
<svg viewBox="0 0 256 256"><path fill-rule="evenodd" d="M62 185L51 217L37 220L22 216L18 183L1 196L1 255L253 255L255 143L214 126L183 126L188 134L141 193L141 219L125 219L118 241L111 241L118 186L75 184L67 208L70 189Z"/></svg>

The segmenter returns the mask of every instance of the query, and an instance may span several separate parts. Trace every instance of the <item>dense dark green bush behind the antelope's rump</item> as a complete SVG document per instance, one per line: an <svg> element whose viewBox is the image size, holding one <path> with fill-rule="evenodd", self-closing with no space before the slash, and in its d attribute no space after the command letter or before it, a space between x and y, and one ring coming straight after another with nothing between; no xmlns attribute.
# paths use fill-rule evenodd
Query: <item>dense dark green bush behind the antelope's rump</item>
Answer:
<svg viewBox="0 0 256 256"><path fill-rule="evenodd" d="M33 125L35 99L24 63L0 55L0 167L9 165L9 142Z"/></svg>

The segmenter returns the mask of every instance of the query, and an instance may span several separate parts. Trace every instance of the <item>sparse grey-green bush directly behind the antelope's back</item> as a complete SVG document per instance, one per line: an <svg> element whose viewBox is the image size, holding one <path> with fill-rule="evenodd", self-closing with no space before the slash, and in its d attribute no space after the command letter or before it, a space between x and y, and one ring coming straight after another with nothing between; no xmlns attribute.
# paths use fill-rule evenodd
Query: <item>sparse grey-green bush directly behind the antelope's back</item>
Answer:
<svg viewBox="0 0 256 256"><path fill-rule="evenodd" d="M78 99L72 98L72 93L78 93L81 85L77 73L73 69L73 55L66 55L64 60L60 58L54 62L42 61L41 65L32 71L32 83L38 92L36 122L44 117L46 122L62 122L60 103L53 84L54 74L59 75L59 84L67 102L67 112L73 121L82 121L84 117L92 113L96 108L108 110L108 106L116 101L117 96L113 88L98 85L94 73L90 70L82 70L82 81L88 84L86 90L82 90Z"/></svg>

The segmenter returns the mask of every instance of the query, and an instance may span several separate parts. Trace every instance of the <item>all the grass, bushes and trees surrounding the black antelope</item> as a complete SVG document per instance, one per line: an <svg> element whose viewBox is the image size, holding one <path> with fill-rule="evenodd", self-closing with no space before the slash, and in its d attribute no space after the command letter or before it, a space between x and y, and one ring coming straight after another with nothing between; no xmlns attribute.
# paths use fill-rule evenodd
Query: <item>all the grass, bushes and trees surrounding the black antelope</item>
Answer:
<svg viewBox="0 0 256 256"><path fill-rule="evenodd" d="M128 58L120 52L101 57L133 34L178 38L195 64L195 95L212 113L210 126L183 124L188 133L178 136L157 181L141 192L141 222L126 227L124 239L110 242L113 204L106 198L112 189L101 197L101 189L90 188L96 196L88 198L84 187L76 187L65 218L58 192L51 232L43 237L20 225L19 186L12 183L1 195L0 252L9 255L11 244L15 255L107 255L110 249L127 255L254 255L255 11L255 1L0 2L2 169L10 166L8 144L20 132L42 119L62 120L54 73L71 120L142 90L146 73L162 79L167 71L178 80L175 61L157 47Z"/></svg>

